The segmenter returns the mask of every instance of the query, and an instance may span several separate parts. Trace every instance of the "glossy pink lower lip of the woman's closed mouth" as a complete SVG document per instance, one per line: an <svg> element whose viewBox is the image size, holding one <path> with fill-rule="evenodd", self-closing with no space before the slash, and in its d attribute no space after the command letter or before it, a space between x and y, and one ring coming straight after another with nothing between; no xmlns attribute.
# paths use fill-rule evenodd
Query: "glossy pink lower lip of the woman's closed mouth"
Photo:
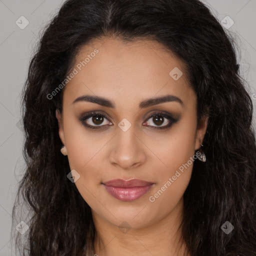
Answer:
<svg viewBox="0 0 256 256"><path fill-rule="evenodd" d="M103 184L106 191L121 201L133 201L144 195L153 184L147 186L136 186L136 187L115 187L115 186L107 186Z"/></svg>

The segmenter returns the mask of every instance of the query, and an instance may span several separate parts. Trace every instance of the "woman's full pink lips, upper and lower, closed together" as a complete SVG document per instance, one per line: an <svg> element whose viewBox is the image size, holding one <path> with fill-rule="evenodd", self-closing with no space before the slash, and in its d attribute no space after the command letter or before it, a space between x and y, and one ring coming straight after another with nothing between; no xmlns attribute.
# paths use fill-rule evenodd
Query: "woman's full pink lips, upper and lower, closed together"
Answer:
<svg viewBox="0 0 256 256"><path fill-rule="evenodd" d="M106 191L121 201L136 200L144 195L155 183L141 179L112 179L103 183Z"/></svg>

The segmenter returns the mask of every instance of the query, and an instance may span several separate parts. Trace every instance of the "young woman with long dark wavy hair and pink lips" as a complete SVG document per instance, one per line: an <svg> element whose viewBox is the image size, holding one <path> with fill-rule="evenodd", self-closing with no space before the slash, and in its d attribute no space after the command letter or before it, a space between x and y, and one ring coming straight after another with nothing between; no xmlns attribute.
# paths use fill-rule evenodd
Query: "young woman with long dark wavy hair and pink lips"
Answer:
<svg viewBox="0 0 256 256"><path fill-rule="evenodd" d="M256 255L245 83L198 0L65 1L23 90L19 250Z"/></svg>

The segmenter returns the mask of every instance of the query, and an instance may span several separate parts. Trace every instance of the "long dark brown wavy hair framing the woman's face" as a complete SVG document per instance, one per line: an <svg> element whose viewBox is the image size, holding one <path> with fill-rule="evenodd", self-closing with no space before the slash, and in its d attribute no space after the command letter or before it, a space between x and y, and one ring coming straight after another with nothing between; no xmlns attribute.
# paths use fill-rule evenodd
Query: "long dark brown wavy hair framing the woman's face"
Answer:
<svg viewBox="0 0 256 256"><path fill-rule="evenodd" d="M67 0L43 30L22 91L25 172L20 195L31 213L24 220L27 255L87 255L95 227L91 209L75 184L55 110L61 83L80 47L94 38L153 39L186 65L197 96L197 122L209 117L203 140L206 162L195 160L184 192L182 235L192 256L256 255L256 146L252 101L239 73L237 44L199 0ZM248 84L247 84L248 85ZM17 201L17 202L16 202ZM225 234L228 220L234 229ZM15 248L16 248L15 247Z"/></svg>

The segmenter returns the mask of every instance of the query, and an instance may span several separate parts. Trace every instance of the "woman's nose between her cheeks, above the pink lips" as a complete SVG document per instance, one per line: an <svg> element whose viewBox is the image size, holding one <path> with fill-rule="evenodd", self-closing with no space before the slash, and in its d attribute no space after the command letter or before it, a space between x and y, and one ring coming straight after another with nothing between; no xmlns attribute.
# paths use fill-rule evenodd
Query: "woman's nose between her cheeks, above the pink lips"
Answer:
<svg viewBox="0 0 256 256"><path fill-rule="evenodd" d="M110 163L125 170L138 167L146 160L146 146L133 127L126 131L117 128L109 152Z"/></svg>

